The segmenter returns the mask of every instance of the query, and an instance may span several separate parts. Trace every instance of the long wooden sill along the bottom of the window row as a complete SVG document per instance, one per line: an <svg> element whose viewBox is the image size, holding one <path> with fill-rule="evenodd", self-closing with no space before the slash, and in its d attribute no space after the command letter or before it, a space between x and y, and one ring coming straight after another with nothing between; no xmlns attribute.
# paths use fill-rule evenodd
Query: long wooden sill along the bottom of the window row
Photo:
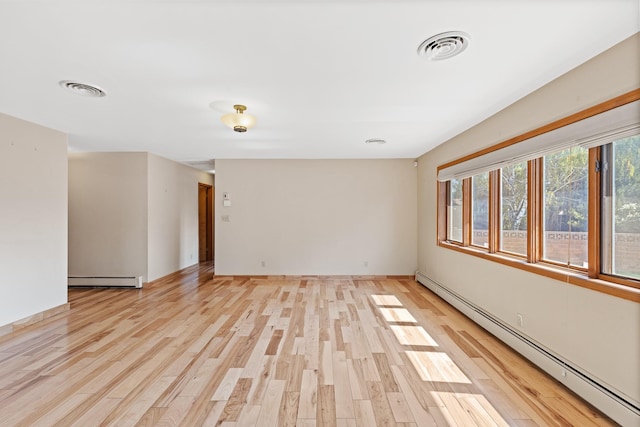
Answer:
<svg viewBox="0 0 640 427"><path fill-rule="evenodd" d="M457 252L462 252L468 255L473 255L489 261L497 262L502 265L517 268L519 270L539 274L541 276L549 277L561 282L569 283L571 285L576 285L608 295L613 295L629 301L640 302L640 289L633 286L622 285L602 279L591 279L587 277L585 273L582 273L580 271L544 263L531 264L528 263L525 259L516 256L511 256L503 253L491 254L479 247L460 246L446 241L439 242L438 246Z"/></svg>

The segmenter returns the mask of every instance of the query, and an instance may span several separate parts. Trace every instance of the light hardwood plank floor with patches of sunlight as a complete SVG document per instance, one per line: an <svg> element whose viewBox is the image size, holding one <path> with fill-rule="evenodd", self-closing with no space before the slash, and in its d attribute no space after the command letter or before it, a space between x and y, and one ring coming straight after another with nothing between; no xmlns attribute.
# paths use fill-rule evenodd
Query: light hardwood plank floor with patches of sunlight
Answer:
<svg viewBox="0 0 640 427"><path fill-rule="evenodd" d="M413 280L70 290L0 337L0 425L549 426L611 420Z"/></svg>

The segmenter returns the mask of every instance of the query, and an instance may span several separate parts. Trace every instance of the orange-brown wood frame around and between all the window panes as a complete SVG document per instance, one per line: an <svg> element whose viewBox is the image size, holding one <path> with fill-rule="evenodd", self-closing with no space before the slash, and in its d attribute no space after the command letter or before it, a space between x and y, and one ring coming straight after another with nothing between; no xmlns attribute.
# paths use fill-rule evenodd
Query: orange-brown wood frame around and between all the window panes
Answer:
<svg viewBox="0 0 640 427"><path fill-rule="evenodd" d="M640 89L605 101L587 108L563 119L541 126L538 129L503 141L476 153L467 155L438 167L438 172L444 168L517 144L518 142L550 132L555 129L575 123L613 108L640 99ZM462 181L463 192L463 224L462 244L447 240L447 197L448 181L438 182L437 188L437 244L439 247L474 255L480 258L498 262L521 270L540 274L552 279L561 280L568 284L581 286L598 292L603 292L619 298L640 302L640 280L611 276L601 272L601 197L600 172L595 164L600 161L600 148L589 149L589 203L588 203L588 263L587 269L566 267L542 261L543 244L543 159L537 158L527 164L527 256L526 259L508 253L500 252L500 176L499 170L489 172L489 247L471 246L471 178Z"/></svg>

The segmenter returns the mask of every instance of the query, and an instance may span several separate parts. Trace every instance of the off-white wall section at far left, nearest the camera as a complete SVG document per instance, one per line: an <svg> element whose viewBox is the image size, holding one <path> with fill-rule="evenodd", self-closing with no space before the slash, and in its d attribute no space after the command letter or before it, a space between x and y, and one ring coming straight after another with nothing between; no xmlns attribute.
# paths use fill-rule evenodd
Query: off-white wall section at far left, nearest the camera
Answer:
<svg viewBox="0 0 640 427"><path fill-rule="evenodd" d="M67 302L67 137L0 114L0 326Z"/></svg>

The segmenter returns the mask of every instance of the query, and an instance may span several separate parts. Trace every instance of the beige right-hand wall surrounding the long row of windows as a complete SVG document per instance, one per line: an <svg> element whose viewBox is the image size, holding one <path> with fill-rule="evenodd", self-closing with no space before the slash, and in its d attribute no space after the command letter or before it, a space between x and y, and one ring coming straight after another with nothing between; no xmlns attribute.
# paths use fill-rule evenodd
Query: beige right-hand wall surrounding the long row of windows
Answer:
<svg viewBox="0 0 640 427"><path fill-rule="evenodd" d="M419 159L418 268L640 402L640 304L436 245L438 165L640 87L638 35ZM464 265L464 268L460 266Z"/></svg>

